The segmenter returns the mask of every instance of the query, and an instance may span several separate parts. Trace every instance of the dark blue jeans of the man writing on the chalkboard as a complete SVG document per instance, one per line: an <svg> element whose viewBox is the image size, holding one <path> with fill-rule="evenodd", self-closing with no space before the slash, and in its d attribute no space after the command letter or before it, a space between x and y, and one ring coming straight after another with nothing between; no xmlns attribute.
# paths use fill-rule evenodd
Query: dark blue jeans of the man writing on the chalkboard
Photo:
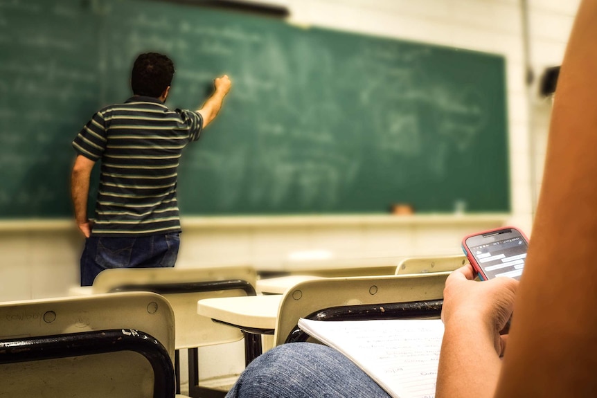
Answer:
<svg viewBox="0 0 597 398"><path fill-rule="evenodd" d="M174 266L179 246L179 233L88 237L81 255L81 286L91 286L98 273L105 269Z"/></svg>

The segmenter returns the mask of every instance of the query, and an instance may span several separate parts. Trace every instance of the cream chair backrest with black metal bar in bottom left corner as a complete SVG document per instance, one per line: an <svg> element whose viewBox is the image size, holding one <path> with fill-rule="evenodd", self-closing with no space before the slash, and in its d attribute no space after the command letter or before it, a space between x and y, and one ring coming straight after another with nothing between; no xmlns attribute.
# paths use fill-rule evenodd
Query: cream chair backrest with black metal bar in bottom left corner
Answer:
<svg viewBox="0 0 597 398"><path fill-rule="evenodd" d="M0 397L173 397L174 328L150 292L0 303ZM156 371L168 392L154 390Z"/></svg>

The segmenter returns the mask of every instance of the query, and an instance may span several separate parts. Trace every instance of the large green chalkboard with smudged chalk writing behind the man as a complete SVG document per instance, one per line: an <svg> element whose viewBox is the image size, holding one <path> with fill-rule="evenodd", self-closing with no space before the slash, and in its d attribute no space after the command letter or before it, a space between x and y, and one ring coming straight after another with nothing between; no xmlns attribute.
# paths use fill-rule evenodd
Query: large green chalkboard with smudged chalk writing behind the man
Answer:
<svg viewBox="0 0 597 398"><path fill-rule="evenodd" d="M175 61L171 108L234 84L184 152L183 214L510 210L501 56L164 1L50 3L0 0L3 217L70 214L70 142L130 96L145 51Z"/></svg>

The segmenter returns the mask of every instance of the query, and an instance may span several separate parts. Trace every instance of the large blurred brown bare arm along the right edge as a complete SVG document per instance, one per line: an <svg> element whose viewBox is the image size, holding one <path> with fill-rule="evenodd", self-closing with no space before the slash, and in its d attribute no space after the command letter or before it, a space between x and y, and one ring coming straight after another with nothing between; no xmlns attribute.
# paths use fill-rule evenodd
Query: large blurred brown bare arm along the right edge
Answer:
<svg viewBox="0 0 597 398"><path fill-rule="evenodd" d="M597 1L580 3L555 92L533 235L497 397L597 391Z"/></svg>

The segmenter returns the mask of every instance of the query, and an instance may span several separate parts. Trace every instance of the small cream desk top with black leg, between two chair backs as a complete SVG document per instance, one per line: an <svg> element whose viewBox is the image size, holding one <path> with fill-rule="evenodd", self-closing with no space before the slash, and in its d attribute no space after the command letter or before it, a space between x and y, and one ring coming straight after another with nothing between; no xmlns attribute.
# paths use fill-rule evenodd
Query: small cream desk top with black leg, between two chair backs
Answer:
<svg viewBox="0 0 597 398"><path fill-rule="evenodd" d="M197 314L215 322L238 327L245 334L247 365L262 353L260 335L274 334L283 295L205 298L197 302Z"/></svg>

